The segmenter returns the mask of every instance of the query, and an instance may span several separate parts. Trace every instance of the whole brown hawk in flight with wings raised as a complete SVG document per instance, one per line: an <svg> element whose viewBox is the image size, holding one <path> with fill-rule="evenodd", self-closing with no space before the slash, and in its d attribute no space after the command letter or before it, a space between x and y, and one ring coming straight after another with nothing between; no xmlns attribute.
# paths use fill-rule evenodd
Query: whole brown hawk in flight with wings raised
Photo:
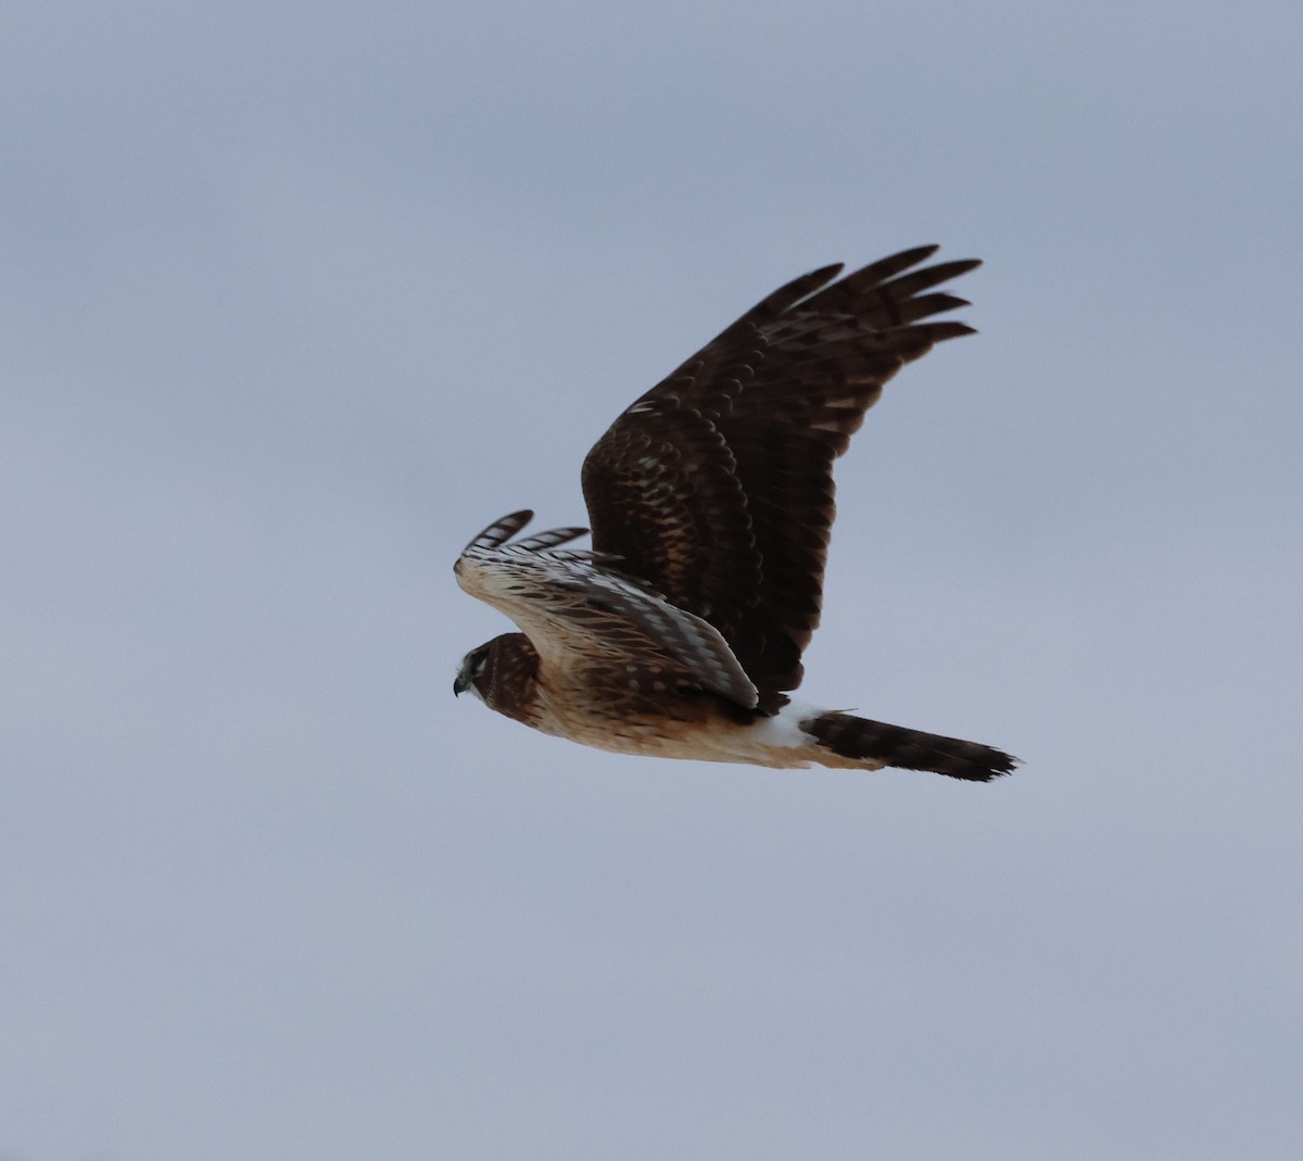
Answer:
<svg viewBox="0 0 1303 1161"><path fill-rule="evenodd" d="M635 401L584 460L584 528L512 539L513 512L457 559L459 584L521 629L466 654L453 692L619 753L804 767L899 766L988 782L1016 758L791 697L820 620L833 461L882 384L972 327L942 283L980 262L920 246L774 291Z"/></svg>

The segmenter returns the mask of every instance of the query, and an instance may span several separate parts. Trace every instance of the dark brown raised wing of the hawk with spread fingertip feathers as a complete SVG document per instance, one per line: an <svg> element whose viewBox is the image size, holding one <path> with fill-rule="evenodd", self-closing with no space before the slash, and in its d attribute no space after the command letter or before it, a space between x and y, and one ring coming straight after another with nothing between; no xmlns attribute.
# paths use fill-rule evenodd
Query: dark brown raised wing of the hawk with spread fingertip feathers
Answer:
<svg viewBox="0 0 1303 1161"><path fill-rule="evenodd" d="M887 379L972 331L924 322L968 305L925 292L980 265L913 268L936 250L779 288L629 407L584 461L593 547L715 625L762 709L800 684L818 624L833 460Z"/></svg>

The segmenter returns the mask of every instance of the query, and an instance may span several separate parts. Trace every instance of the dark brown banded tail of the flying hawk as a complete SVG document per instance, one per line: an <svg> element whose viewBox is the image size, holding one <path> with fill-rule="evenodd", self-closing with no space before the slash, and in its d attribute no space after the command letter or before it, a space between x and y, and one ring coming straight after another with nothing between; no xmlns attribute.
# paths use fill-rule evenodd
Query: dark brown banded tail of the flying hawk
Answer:
<svg viewBox="0 0 1303 1161"><path fill-rule="evenodd" d="M825 766L899 766L968 782L990 782L1018 765L1018 758L977 741L870 722L837 710L807 718L800 727L816 739L816 748L823 757L814 761Z"/></svg>

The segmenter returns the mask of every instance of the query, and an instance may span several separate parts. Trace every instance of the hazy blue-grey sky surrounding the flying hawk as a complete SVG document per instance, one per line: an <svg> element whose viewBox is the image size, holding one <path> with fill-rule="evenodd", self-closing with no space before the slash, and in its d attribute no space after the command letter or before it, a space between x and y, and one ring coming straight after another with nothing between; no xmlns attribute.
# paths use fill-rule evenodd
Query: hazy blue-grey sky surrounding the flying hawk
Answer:
<svg viewBox="0 0 1303 1161"><path fill-rule="evenodd" d="M1295 1158L1295 4L9 5L0 1158ZM455 701L452 579L764 293L941 242L804 696Z"/></svg>

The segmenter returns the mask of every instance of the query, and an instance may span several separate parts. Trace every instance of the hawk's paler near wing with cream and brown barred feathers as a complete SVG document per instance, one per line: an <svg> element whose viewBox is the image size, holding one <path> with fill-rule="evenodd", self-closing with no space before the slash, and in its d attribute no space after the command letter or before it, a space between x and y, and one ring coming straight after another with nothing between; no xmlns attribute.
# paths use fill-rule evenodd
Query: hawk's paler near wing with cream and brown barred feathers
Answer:
<svg viewBox="0 0 1303 1161"><path fill-rule="evenodd" d="M453 571L472 597L520 627L542 666L649 695L710 689L754 709L756 687L717 629L606 567L601 552L551 551L586 529L506 543L532 517L515 512L485 529Z"/></svg>

